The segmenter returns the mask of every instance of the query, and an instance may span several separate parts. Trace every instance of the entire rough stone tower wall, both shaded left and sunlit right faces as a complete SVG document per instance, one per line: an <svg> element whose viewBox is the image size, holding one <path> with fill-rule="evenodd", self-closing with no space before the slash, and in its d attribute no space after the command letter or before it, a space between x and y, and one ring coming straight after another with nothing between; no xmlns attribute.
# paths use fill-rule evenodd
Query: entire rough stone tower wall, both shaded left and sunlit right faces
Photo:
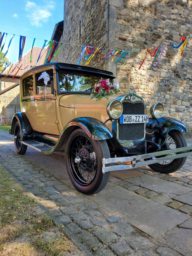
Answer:
<svg viewBox="0 0 192 256"><path fill-rule="evenodd" d="M123 93L128 93L133 85L145 99L147 110L161 101L165 116L183 121L192 135L191 7L192 1L187 0L65 0L63 42L137 50L131 58L123 58L117 64L118 55L113 62L102 60L99 63L97 54L89 66L112 71ZM177 60L179 50L173 49L169 42L178 45L179 37L185 35L190 36L189 42L183 56ZM165 42L167 45L157 68L149 70L153 58L147 55L138 70L145 48L159 44L163 47ZM77 64L81 48L64 44L56 60Z"/></svg>

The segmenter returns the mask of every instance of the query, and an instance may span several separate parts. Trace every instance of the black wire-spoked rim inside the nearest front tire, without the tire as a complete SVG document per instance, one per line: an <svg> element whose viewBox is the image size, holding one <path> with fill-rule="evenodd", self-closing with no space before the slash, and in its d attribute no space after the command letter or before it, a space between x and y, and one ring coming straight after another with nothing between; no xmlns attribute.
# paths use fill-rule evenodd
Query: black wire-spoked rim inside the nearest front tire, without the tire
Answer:
<svg viewBox="0 0 192 256"><path fill-rule="evenodd" d="M81 185L93 182L97 173L97 155L89 138L76 136L71 141L69 161L74 178Z"/></svg>

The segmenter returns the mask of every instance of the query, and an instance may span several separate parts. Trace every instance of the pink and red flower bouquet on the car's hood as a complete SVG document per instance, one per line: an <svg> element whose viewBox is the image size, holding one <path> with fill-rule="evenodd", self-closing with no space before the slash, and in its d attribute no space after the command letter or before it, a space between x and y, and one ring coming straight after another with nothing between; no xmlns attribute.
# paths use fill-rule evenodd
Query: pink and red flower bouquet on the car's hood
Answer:
<svg viewBox="0 0 192 256"><path fill-rule="evenodd" d="M120 91L119 83L112 85L112 83L110 83L109 81L104 80L104 79L99 80L99 82L96 85L96 88L94 90L95 91L94 91L91 99L97 98L96 101L100 100L103 97L108 99L107 96L117 94Z"/></svg>

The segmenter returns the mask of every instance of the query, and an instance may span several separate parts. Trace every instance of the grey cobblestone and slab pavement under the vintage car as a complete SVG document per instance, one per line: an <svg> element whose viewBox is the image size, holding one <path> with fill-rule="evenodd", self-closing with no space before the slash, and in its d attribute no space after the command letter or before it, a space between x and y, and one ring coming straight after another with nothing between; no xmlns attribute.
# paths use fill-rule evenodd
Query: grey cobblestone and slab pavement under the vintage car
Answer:
<svg viewBox="0 0 192 256"><path fill-rule="evenodd" d="M111 172L103 191L85 196L71 184L62 154L28 148L20 156L13 136L0 131L1 165L86 255L191 256L191 160L170 175L149 167Z"/></svg>

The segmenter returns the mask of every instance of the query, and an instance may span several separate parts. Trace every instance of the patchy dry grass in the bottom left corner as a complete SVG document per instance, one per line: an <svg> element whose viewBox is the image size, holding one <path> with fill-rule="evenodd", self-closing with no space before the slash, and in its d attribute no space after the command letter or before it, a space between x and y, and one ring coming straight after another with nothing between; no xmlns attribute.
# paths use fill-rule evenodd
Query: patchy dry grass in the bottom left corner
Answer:
<svg viewBox="0 0 192 256"><path fill-rule="evenodd" d="M77 250L1 166L0 181L0 255L60 256Z"/></svg>

